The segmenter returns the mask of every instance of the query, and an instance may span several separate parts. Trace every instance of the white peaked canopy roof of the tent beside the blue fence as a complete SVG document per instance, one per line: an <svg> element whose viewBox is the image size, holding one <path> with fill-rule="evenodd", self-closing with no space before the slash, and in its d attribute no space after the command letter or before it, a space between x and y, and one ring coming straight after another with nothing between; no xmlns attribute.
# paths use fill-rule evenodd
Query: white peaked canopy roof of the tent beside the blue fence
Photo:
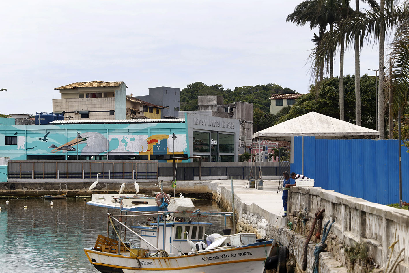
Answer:
<svg viewBox="0 0 409 273"><path fill-rule="evenodd" d="M293 136L316 138L362 138L379 132L316 112L295 117L253 134L253 138L290 140Z"/></svg>

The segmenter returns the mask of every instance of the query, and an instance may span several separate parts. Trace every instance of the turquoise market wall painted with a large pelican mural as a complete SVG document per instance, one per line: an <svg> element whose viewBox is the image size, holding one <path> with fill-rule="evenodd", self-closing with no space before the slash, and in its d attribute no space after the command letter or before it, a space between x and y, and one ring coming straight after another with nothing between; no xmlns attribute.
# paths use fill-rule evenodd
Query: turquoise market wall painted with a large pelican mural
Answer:
<svg viewBox="0 0 409 273"><path fill-rule="evenodd" d="M0 156L25 160L29 155L190 155L183 123L56 124L0 126ZM79 134L79 137L77 137ZM5 145L15 137L16 145ZM78 149L78 151L77 151Z"/></svg>

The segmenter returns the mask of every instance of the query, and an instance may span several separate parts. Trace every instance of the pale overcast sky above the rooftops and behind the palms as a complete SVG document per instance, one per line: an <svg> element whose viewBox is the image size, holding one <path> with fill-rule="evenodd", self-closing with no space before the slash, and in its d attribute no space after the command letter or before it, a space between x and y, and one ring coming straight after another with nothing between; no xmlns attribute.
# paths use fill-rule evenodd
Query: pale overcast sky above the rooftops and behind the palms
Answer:
<svg viewBox="0 0 409 273"><path fill-rule="evenodd" d="M51 112L54 88L94 80L123 81L134 96L197 81L307 93L314 31L285 22L300 2L2 1L0 113ZM354 74L353 49L344 62L344 75ZM364 46L361 75L378 66L378 45Z"/></svg>

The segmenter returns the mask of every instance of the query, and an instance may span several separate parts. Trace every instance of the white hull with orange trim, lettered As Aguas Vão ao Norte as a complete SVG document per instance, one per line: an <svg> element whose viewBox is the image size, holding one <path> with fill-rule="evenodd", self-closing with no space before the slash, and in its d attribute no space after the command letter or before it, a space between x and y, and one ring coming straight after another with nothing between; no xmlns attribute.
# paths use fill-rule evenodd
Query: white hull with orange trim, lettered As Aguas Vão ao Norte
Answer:
<svg viewBox="0 0 409 273"><path fill-rule="evenodd" d="M237 248L173 257L130 257L85 248L91 264L102 273L226 273L263 272L272 241Z"/></svg>

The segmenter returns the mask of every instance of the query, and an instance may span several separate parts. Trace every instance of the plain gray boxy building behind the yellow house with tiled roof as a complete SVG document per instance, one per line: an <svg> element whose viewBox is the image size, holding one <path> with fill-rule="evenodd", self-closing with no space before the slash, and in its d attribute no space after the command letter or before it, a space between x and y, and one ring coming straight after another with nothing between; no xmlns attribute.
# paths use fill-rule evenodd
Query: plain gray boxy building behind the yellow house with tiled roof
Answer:
<svg viewBox="0 0 409 273"><path fill-rule="evenodd" d="M145 102L150 102L156 105L162 105L161 118L177 118L180 108L180 89L174 87L154 87L149 88L149 95L138 96Z"/></svg>

